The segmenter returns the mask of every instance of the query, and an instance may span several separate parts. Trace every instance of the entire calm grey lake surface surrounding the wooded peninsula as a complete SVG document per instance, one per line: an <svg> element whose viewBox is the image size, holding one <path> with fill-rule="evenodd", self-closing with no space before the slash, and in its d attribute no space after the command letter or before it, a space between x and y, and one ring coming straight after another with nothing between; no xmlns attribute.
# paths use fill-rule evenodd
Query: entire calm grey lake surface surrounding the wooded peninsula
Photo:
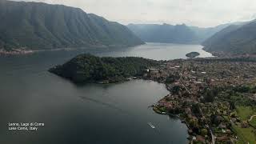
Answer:
<svg viewBox="0 0 256 144"><path fill-rule="evenodd" d="M197 45L148 43L126 50L41 52L0 57L0 143L141 144L187 143L187 128L177 118L155 114L148 106L168 94L157 82L76 86L47 70L77 54L186 58ZM38 131L8 130L8 122L44 122ZM152 129L151 122L155 129Z"/></svg>

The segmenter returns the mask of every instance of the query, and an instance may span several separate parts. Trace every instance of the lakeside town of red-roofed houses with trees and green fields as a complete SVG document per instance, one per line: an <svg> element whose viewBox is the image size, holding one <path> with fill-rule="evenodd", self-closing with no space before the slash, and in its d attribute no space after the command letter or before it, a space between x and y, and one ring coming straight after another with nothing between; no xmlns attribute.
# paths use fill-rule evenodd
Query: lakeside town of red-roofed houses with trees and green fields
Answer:
<svg viewBox="0 0 256 144"><path fill-rule="evenodd" d="M256 142L255 58L171 60L143 78L166 84L153 110L181 118L191 143Z"/></svg>

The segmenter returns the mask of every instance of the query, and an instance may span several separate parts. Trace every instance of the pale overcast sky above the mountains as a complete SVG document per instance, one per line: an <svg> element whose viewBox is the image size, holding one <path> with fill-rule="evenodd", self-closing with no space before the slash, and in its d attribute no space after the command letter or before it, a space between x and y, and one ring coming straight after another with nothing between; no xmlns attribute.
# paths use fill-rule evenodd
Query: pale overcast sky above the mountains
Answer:
<svg viewBox="0 0 256 144"><path fill-rule="evenodd" d="M20 0L17 0L20 1ZM31 0L26 0L31 1ZM217 26L256 18L256 0L33 0L79 7L110 21Z"/></svg>

